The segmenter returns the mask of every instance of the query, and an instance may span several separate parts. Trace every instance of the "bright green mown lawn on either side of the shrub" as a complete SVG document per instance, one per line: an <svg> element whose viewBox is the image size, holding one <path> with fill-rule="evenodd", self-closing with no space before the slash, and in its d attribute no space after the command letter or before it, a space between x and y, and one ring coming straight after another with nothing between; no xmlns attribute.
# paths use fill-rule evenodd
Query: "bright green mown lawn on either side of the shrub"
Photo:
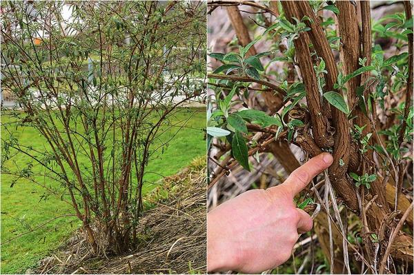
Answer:
<svg viewBox="0 0 414 275"><path fill-rule="evenodd" d="M193 116L186 123L186 128L181 129L175 139L170 141L164 154L150 161L145 176L146 181L155 182L162 176L175 174L195 157L206 153L204 133L201 130L206 124L206 112L202 109L193 109L193 111ZM183 121L188 115L188 112L179 112L174 119ZM2 123L8 121L5 116L1 119ZM165 138L168 139L176 130L177 128L166 132ZM18 137L21 143L33 147L41 147L44 143L41 136L31 128L19 130ZM27 157L19 156L18 163L23 165L27 162ZM33 230L51 218L72 213L70 205L56 196L42 199L45 192L30 181L18 181L14 187L10 187L11 183L10 176L1 176L1 243L23 232ZM48 184L54 183L48 182ZM146 192L154 186L147 183ZM57 249L77 227L79 227L79 222L76 217L64 216L39 230L1 245L0 273L24 274L26 269L36 265L39 259L50 254L53 249Z"/></svg>

